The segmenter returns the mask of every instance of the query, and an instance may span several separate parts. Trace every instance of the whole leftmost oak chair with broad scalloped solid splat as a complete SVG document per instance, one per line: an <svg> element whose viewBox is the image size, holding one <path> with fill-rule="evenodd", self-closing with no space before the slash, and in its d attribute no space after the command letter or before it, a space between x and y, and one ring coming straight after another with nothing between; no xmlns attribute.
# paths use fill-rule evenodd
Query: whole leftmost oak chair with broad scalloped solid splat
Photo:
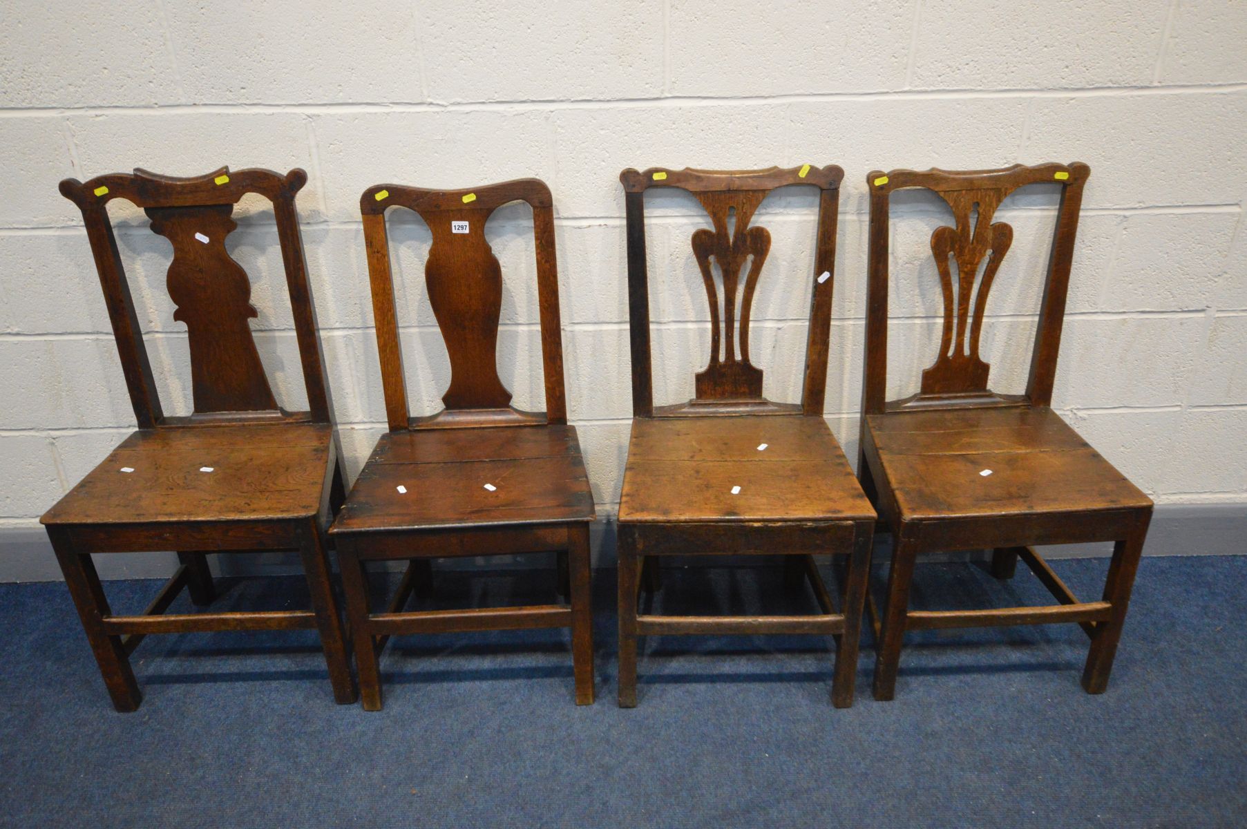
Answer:
<svg viewBox="0 0 1247 829"><path fill-rule="evenodd" d="M141 693L128 657L148 633L296 630L320 632L334 698L355 699L347 642L329 582L322 520L342 504L344 481L294 196L307 173L268 170L172 178L142 170L61 182L82 211L138 430L42 519L82 627L117 711ZM234 204L269 199L277 219L309 411L278 408L256 350L247 273L226 249ZM107 204L146 211L173 247L167 287L187 328L195 411L161 409L147 349ZM92 553L177 550L181 566L140 616L115 616ZM205 553L298 550L312 610L165 613L181 590L208 605L216 591Z"/></svg>

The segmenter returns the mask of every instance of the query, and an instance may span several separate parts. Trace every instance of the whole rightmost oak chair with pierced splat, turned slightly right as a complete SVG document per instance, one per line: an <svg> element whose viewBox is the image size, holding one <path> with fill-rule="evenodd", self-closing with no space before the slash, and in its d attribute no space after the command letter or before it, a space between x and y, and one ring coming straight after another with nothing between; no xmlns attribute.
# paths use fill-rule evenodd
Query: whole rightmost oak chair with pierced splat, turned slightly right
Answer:
<svg viewBox="0 0 1247 829"><path fill-rule="evenodd" d="M1084 163L1050 163L970 172L875 171L867 177L870 252L859 470L893 537L882 625L872 602L879 638L877 699L893 698L902 638L922 628L1076 622L1091 638L1082 687L1090 693L1107 687L1152 502L1050 408L1079 206L1090 172ZM996 394L988 388L989 365L979 357L979 339L1013 228L993 217L1015 189L1041 182L1060 186L1060 207L1030 378L1023 395ZM936 228L930 239L944 327L919 391L885 401L889 198L909 187L934 191L953 212L953 226ZM1102 600L1084 602L1030 545L1091 541L1115 546ZM994 549L996 577L1011 577L1020 557L1059 603L909 610L919 555L986 547Z"/></svg>

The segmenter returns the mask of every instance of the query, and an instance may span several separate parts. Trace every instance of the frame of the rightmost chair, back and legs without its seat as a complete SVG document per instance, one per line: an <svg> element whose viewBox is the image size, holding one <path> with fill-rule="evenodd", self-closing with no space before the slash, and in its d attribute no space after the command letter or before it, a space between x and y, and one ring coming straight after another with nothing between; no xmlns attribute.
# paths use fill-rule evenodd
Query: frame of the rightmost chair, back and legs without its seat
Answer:
<svg viewBox="0 0 1247 829"><path fill-rule="evenodd" d="M880 620L873 596L872 621L879 641L874 674L874 697L895 694L902 640L905 631L949 627L986 627L1076 622L1091 640L1082 673L1089 693L1107 688L1114 654L1121 637L1131 586L1142 553L1151 501L1139 492L1137 502L1124 509L1091 509L1065 512L1019 512L986 516L958 516L910 520L902 515L892 484L882 466L872 424L933 410L974 411L1025 408L1038 413L1051 405L1061 327L1069 288L1074 242L1082 188L1090 168L1084 163L1014 165L1003 170L874 171L867 176L870 192L869 284L867 298L865 379L862 396L862 441L859 475L882 522L892 531L893 555L888 576L888 598ZM1000 203L1020 187L1059 184L1060 204L1049 258L1039 325L1031 355L1030 376L1023 395L996 394L988 389L989 367L979 358L979 335L991 279L1013 239L1005 223L993 223ZM889 202L893 192L925 188L940 196L953 209L955 227L940 227L932 236L932 249L944 292L944 329L935 364L923 373L922 389L903 400L887 401L888 288L889 288ZM949 257L958 263L958 280L950 273ZM986 263L984 266L984 259ZM974 308L970 295L983 267ZM954 288L956 300L954 300ZM955 335L954 335L955 333ZM1115 470L1114 470L1115 471ZM1136 490L1137 491L1137 490ZM1112 541L1114 555L1104 596L1080 601L1035 551L1034 545ZM915 560L930 551L993 547L991 572L1010 578L1020 557L1059 602L1049 607L1010 607L974 611L912 611L909 587Z"/></svg>

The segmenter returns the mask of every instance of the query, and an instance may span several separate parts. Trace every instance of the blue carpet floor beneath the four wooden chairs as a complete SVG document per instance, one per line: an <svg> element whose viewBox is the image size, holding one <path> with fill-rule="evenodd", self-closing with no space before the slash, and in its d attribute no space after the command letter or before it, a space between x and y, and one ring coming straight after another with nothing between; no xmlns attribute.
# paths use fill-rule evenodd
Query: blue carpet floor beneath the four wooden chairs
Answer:
<svg viewBox="0 0 1247 829"><path fill-rule="evenodd" d="M1084 596L1107 562L1055 562ZM897 699L829 703L829 640L651 640L615 706L614 571L597 691L560 631L403 637L385 709L335 706L306 633L150 637L115 713L64 585L0 585L0 824L12 827L1242 827L1247 556L1145 558L1112 682L1079 687L1076 626L907 638ZM879 590L882 573L877 573ZM107 585L137 612L156 582ZM552 576L440 572L439 601L547 601ZM673 568L660 607L813 607L778 570ZM700 598L698 598L700 597ZM1047 603L1019 567L922 565L914 605ZM188 607L180 598L175 607ZM294 607L297 578L219 607Z"/></svg>

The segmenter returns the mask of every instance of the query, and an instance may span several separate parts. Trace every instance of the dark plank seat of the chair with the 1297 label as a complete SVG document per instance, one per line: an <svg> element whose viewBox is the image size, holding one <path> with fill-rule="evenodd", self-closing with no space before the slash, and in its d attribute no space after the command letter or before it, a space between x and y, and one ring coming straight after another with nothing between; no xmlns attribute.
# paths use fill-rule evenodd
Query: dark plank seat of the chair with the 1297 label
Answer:
<svg viewBox="0 0 1247 829"><path fill-rule="evenodd" d="M428 429L382 436L334 532L592 519L574 426Z"/></svg>

